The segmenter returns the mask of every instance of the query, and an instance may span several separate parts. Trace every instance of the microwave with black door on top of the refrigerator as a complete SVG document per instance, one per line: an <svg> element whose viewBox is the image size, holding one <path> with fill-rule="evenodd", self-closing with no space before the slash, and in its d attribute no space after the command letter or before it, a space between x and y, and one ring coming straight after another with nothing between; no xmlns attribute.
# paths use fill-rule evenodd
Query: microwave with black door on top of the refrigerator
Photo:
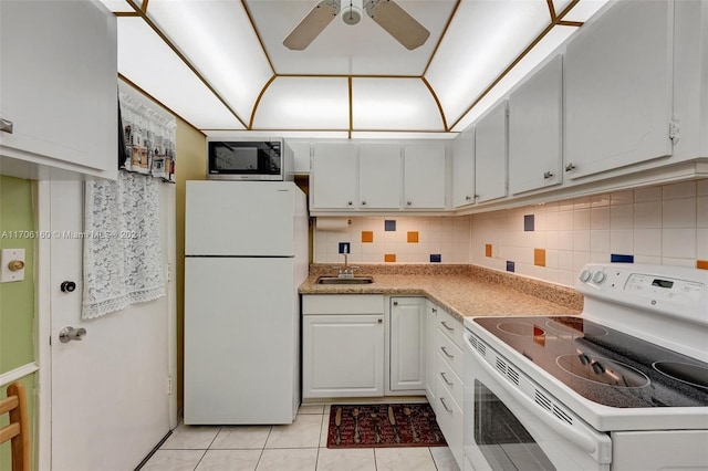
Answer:
<svg viewBox="0 0 708 471"><path fill-rule="evenodd" d="M207 140L207 178L292 180L293 151L283 139Z"/></svg>

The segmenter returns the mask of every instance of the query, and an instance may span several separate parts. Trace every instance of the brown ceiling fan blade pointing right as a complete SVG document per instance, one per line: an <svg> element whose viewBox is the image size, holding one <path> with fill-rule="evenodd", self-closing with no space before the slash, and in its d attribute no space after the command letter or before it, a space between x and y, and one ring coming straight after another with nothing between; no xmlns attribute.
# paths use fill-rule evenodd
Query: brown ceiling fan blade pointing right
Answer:
<svg viewBox="0 0 708 471"><path fill-rule="evenodd" d="M393 0L372 0L366 4L366 13L408 50L423 45L430 35L423 24Z"/></svg>

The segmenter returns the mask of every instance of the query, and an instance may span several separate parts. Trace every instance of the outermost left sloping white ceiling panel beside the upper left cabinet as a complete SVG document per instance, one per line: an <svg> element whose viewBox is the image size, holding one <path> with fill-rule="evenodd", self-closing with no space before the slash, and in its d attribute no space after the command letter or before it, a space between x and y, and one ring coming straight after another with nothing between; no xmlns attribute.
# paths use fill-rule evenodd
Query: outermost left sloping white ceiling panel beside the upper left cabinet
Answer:
<svg viewBox="0 0 708 471"><path fill-rule="evenodd" d="M199 129L243 129L145 21L119 17L117 22L121 74Z"/></svg>

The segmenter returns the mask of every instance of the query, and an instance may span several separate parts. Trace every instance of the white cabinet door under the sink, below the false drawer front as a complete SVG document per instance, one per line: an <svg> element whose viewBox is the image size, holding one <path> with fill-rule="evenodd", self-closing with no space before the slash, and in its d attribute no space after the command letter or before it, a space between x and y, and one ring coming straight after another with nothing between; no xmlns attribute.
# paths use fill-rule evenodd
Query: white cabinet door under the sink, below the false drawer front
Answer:
<svg viewBox="0 0 708 471"><path fill-rule="evenodd" d="M305 315L303 398L384 395L383 315Z"/></svg>

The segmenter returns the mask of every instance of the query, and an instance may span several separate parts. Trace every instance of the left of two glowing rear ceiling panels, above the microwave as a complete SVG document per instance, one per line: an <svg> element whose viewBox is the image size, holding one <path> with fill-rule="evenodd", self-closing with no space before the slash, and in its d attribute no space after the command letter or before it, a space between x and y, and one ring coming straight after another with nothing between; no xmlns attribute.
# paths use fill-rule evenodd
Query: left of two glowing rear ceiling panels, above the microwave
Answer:
<svg viewBox="0 0 708 471"><path fill-rule="evenodd" d="M278 77L263 93L253 129L348 129L345 77Z"/></svg>

